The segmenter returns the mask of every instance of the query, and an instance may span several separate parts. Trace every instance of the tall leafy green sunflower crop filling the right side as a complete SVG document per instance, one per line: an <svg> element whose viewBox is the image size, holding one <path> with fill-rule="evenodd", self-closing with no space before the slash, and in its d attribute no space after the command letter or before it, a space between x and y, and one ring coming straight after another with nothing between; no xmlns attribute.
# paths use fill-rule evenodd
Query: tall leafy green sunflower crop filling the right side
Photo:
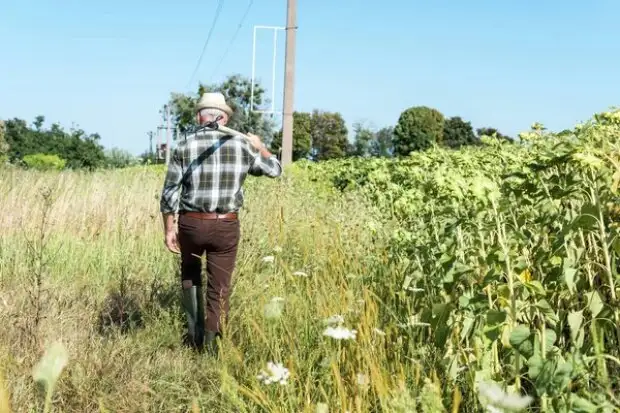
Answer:
<svg viewBox="0 0 620 413"><path fill-rule="evenodd" d="M366 282L386 320L432 343L442 383L494 380L535 395L543 411L611 411L620 111L559 134L537 125L521 141L497 134L458 151L305 168L395 222L388 255L400 279Z"/></svg>

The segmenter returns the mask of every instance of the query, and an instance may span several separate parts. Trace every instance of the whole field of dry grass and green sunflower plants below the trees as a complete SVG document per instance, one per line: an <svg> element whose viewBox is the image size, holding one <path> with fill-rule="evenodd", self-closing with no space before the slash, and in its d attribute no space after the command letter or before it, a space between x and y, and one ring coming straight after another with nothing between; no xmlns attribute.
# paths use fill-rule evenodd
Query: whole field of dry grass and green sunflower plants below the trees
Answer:
<svg viewBox="0 0 620 413"><path fill-rule="evenodd" d="M533 411L620 408L620 112L249 180L217 360L181 345L163 172L0 172L0 413L519 404L493 382ZM337 315L354 339L324 335ZM33 366L56 341L44 406ZM269 362L286 385L258 379Z"/></svg>

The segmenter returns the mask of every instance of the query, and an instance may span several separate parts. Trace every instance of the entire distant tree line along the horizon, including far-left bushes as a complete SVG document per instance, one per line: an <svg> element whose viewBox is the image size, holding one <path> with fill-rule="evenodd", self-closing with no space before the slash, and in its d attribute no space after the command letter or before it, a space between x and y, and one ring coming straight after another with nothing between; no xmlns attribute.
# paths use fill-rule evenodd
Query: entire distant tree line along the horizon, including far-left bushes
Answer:
<svg viewBox="0 0 620 413"><path fill-rule="evenodd" d="M219 84L200 84L195 94L172 93L166 103L171 110L171 122L178 130L175 140L196 126L195 105L206 91L221 92L234 110L229 126L243 133L255 133L263 138L271 151L279 153L282 130L276 129L269 115L251 110L264 108L270 102L265 89L255 82L252 91L250 79L239 74L229 76ZM53 169L100 169L124 167L154 159L151 151L134 157L117 148L106 149L97 133L82 129L65 130L59 124L44 128L45 118L37 116L32 125L23 119L0 120L0 161L29 167ZM353 139L339 112L314 109L312 112L293 114L293 160L322 161L335 158L407 156L433 145L458 149L464 145L478 145L483 135L497 136L513 141L494 128L474 131L470 122L456 117L445 117L437 109L414 106L404 110L396 125L379 129L362 122L353 124Z"/></svg>

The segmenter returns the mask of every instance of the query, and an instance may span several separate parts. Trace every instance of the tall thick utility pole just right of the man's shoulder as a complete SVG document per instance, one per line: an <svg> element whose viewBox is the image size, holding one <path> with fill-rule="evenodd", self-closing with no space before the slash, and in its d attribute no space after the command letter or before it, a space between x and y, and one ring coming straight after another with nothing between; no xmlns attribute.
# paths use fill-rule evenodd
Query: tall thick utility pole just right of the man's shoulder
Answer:
<svg viewBox="0 0 620 413"><path fill-rule="evenodd" d="M295 87L295 31L297 0L286 4L286 51L284 63L284 108L282 113L282 166L293 161L293 98Z"/></svg>

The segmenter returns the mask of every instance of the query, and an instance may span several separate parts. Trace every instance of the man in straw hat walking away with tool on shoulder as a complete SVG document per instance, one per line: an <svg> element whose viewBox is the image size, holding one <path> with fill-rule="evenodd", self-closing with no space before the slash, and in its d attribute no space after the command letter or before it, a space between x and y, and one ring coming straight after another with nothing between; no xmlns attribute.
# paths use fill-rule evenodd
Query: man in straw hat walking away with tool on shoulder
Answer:
<svg viewBox="0 0 620 413"><path fill-rule="evenodd" d="M199 125L226 125L232 109L221 93L205 93L198 102ZM187 344L217 352L216 338L227 321L231 276L240 238L238 212L247 175L276 178L282 167L261 139L202 129L173 151L164 182L160 210L165 244L181 255L183 308ZM181 194L179 196L179 189ZM179 213L178 232L174 228ZM206 314L201 259L207 254Z"/></svg>

